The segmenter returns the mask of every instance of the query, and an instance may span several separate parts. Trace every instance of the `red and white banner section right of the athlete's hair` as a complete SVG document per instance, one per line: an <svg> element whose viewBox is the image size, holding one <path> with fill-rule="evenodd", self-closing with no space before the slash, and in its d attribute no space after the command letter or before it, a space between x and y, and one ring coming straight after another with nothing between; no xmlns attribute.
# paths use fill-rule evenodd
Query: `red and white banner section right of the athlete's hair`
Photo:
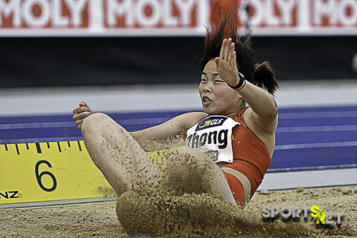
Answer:
<svg viewBox="0 0 357 238"><path fill-rule="evenodd" d="M357 0L245 0L254 35L357 35ZM241 9L243 10L243 7Z"/></svg>

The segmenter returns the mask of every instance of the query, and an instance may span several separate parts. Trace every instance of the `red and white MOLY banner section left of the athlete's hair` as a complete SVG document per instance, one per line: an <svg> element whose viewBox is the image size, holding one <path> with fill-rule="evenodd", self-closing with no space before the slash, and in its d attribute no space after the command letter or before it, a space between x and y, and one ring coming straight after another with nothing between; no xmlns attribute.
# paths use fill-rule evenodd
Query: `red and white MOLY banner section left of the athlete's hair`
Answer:
<svg viewBox="0 0 357 238"><path fill-rule="evenodd" d="M0 0L0 35L203 35L206 0Z"/></svg>

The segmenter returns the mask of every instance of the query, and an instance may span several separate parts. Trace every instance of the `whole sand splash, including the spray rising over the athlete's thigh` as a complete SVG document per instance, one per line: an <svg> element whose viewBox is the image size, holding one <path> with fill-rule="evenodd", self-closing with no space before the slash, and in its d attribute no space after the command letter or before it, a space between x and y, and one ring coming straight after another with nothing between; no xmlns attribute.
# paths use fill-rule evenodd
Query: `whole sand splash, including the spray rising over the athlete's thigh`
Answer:
<svg viewBox="0 0 357 238"><path fill-rule="evenodd" d="M173 159L174 158L174 159ZM239 209L211 192L205 181L211 162L169 156L161 186L124 192L116 214L128 234L150 237L307 237L311 227L293 222L262 222L256 209ZM213 164L214 165L214 164ZM174 168L185 167L187 170ZM194 170L194 171L192 171ZM175 172L176 171L176 172Z"/></svg>

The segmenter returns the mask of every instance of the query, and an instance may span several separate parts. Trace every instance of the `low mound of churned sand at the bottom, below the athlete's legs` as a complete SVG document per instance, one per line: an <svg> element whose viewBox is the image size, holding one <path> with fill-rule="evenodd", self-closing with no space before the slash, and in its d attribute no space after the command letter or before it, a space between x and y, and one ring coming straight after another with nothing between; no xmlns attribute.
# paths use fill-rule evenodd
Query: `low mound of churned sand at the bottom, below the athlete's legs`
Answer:
<svg viewBox="0 0 357 238"><path fill-rule="evenodd" d="M221 197L139 195L129 191L116 205L128 234L151 237L308 237L311 227L293 222L262 222L261 214L228 205Z"/></svg>

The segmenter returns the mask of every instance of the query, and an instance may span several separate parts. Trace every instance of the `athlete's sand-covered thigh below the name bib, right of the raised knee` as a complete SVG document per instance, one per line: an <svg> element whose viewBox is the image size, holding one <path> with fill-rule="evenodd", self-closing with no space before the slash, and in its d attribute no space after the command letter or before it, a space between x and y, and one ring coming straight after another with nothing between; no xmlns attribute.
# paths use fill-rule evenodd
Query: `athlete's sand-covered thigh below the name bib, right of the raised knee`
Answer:
<svg viewBox="0 0 357 238"><path fill-rule="evenodd" d="M188 147L179 148L169 155L167 170L174 189L188 193L218 193L236 205L223 171L204 152Z"/></svg>

